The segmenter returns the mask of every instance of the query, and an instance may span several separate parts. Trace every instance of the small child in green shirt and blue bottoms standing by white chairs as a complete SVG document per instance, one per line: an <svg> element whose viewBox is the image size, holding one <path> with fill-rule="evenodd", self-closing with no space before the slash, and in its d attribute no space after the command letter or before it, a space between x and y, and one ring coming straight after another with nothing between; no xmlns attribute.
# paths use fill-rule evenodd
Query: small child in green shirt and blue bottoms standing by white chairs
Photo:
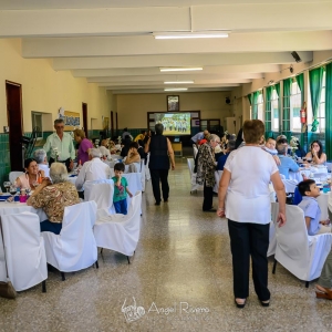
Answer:
<svg viewBox="0 0 332 332"><path fill-rule="evenodd" d="M127 214L127 194L129 197L133 197L132 193L127 188L128 183L125 177L122 177L125 166L123 163L117 163L114 165L114 174L112 177L114 180L114 196L113 204L115 207L116 214Z"/></svg>

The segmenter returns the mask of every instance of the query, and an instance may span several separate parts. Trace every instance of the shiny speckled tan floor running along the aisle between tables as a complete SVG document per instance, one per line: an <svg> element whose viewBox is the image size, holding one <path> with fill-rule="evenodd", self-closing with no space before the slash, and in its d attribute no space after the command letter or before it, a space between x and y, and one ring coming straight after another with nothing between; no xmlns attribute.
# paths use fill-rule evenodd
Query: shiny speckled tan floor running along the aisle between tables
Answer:
<svg viewBox="0 0 332 332"><path fill-rule="evenodd" d="M317 300L313 283L305 289L281 266L269 276L270 308L259 304L251 283L246 308L237 309L226 220L201 212L186 159L177 159L169 184L169 203L157 207L146 186L131 264L104 250L98 270L65 281L50 272L48 293L35 287L14 301L0 299L0 331L331 331L332 301ZM136 320L126 322L122 307L133 298Z"/></svg>

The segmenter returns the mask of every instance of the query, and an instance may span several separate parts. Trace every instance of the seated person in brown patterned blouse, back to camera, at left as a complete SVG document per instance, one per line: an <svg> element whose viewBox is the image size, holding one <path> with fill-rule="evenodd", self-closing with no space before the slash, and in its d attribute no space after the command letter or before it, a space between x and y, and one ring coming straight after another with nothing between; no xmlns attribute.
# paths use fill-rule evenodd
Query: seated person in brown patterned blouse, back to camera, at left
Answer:
<svg viewBox="0 0 332 332"><path fill-rule="evenodd" d="M56 235L62 228L64 208L80 203L75 186L68 180L66 167L62 163L53 163L50 177L44 178L40 186L29 197L27 204L34 208L42 208L48 219L40 224L41 231Z"/></svg>

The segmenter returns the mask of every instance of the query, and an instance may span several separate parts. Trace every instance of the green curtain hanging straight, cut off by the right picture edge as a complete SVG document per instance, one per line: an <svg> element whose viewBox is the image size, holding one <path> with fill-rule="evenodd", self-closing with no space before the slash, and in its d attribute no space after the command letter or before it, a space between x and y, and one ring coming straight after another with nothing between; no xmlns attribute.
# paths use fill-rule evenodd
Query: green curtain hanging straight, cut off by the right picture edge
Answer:
<svg viewBox="0 0 332 332"><path fill-rule="evenodd" d="M332 63L325 69L325 153L332 158Z"/></svg>

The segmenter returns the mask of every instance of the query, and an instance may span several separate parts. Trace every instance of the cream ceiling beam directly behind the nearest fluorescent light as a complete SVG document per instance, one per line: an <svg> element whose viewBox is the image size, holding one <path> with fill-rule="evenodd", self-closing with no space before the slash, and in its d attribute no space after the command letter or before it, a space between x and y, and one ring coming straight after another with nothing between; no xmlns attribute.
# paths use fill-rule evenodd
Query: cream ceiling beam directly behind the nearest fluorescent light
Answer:
<svg viewBox="0 0 332 332"><path fill-rule="evenodd" d="M138 37L35 38L22 40L23 58L133 56L332 49L332 31L232 33L221 40L155 40Z"/></svg>

